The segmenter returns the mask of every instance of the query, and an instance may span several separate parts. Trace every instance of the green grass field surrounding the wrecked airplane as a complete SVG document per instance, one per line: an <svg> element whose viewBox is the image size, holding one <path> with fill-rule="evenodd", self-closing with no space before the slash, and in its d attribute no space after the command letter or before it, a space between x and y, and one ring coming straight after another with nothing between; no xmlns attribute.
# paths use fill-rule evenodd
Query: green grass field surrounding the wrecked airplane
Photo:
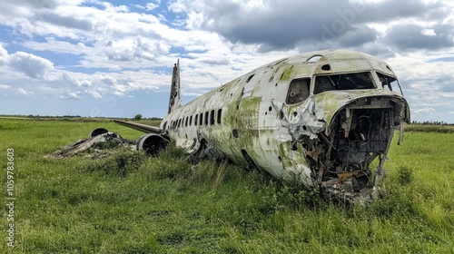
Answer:
<svg viewBox="0 0 454 254"><path fill-rule="evenodd" d="M383 199L344 207L225 162L159 157L44 158L99 121L0 119L0 253L453 253L454 135L392 142ZM424 131L424 130L422 130ZM14 237L7 246L7 149L14 149ZM11 155L11 154L10 154Z"/></svg>

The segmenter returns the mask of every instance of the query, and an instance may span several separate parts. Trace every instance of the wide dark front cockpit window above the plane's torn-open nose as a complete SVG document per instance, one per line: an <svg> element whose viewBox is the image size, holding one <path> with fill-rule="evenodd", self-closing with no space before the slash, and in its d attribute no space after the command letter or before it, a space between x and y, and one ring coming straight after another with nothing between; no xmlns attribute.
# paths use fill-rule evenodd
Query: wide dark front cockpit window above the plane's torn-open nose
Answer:
<svg viewBox="0 0 454 254"><path fill-rule="evenodd" d="M370 73L323 75L315 78L314 94L331 90L374 89Z"/></svg>

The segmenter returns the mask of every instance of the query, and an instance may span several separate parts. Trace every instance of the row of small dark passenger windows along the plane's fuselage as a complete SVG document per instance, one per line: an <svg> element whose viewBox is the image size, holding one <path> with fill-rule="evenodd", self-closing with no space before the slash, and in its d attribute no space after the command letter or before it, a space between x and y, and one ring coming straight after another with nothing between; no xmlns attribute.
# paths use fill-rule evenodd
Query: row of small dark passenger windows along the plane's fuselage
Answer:
<svg viewBox="0 0 454 254"><path fill-rule="evenodd" d="M186 116L181 119L171 121L170 128L181 128L181 127L188 127L197 125L214 125L215 123L221 124L222 119L222 109L212 110L211 112L201 112L196 113L194 115ZM192 121L193 120L193 121ZM167 128L167 122L164 122L164 129Z"/></svg>

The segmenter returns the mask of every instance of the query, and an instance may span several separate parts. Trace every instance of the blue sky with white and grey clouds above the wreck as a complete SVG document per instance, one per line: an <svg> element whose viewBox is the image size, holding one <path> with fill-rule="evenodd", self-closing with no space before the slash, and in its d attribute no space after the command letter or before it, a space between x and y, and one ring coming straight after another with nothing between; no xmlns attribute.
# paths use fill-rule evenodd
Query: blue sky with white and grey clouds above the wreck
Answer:
<svg viewBox="0 0 454 254"><path fill-rule="evenodd" d="M9 3L8 3L9 2ZM454 123L454 3L426 0L0 3L0 114L163 117L281 57L347 48L398 74L412 120Z"/></svg>

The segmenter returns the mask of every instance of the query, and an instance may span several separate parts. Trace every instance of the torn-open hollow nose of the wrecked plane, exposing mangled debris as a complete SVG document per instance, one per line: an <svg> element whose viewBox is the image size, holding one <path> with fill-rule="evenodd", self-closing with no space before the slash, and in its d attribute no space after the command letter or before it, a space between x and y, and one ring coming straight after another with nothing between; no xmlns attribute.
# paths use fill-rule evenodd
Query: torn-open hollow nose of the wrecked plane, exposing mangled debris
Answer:
<svg viewBox="0 0 454 254"><path fill-rule="evenodd" d="M382 176L394 130L409 121L402 98L375 93L341 106L317 138L303 135L299 140L312 179L332 193L369 195Z"/></svg>

